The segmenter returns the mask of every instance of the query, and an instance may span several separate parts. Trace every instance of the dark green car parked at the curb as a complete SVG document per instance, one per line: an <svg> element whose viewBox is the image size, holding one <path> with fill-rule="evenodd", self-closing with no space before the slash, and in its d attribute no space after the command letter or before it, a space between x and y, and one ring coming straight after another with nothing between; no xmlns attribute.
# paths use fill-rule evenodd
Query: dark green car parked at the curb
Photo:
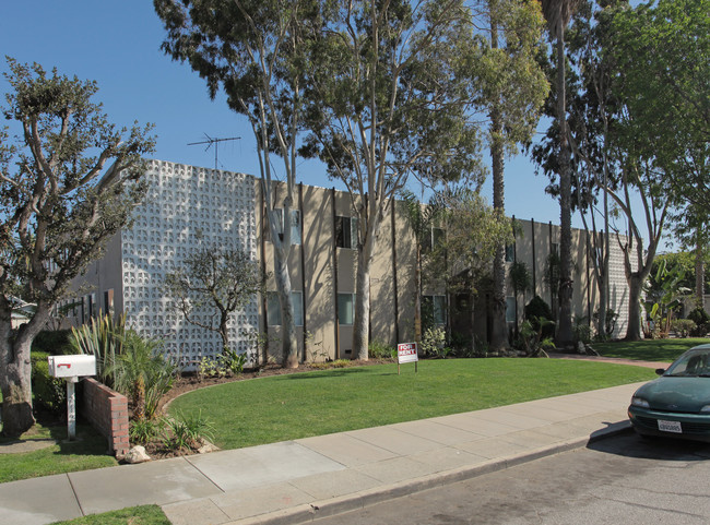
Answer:
<svg viewBox="0 0 710 525"><path fill-rule="evenodd" d="M690 348L631 397L628 414L642 437L710 442L710 345Z"/></svg>

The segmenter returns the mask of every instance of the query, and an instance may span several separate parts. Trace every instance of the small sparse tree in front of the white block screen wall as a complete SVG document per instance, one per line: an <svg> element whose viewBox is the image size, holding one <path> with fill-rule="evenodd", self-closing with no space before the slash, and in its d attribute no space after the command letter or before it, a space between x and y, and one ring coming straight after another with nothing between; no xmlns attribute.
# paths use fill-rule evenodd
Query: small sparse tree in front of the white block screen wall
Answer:
<svg viewBox="0 0 710 525"><path fill-rule="evenodd" d="M263 278L257 262L242 250L201 246L180 267L167 274L165 284L185 319L218 333L222 354L227 355L230 351L229 317L262 290ZM196 315L205 310L213 312L209 321Z"/></svg>

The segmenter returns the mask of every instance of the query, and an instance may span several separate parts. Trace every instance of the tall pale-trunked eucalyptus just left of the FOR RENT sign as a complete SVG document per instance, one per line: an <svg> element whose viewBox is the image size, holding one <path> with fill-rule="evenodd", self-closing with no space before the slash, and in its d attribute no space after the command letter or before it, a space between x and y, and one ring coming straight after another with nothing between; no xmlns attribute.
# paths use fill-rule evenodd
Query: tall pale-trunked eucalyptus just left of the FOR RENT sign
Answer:
<svg viewBox="0 0 710 525"><path fill-rule="evenodd" d="M480 172L472 36L461 0L352 0L333 5L312 47L303 152L345 184L357 217L356 359L367 359L370 265L393 196L410 174Z"/></svg>

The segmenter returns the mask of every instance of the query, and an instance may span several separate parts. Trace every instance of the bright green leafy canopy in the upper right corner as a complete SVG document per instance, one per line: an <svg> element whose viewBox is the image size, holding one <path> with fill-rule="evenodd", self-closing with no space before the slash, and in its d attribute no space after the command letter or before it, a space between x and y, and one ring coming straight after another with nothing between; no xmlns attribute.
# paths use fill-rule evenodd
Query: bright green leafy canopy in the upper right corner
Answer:
<svg viewBox="0 0 710 525"><path fill-rule="evenodd" d="M652 0L615 13L608 52L641 154L688 202L710 210L709 0Z"/></svg>

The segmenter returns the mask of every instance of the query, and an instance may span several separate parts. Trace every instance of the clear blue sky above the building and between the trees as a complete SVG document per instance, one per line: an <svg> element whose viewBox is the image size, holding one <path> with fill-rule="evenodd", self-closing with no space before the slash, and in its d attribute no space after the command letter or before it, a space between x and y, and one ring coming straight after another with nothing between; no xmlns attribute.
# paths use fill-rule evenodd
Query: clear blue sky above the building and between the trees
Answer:
<svg viewBox="0 0 710 525"><path fill-rule="evenodd" d="M0 16L0 51L20 62L95 80L111 121L128 126L153 122L154 158L214 167L214 150L187 145L212 138L241 136L220 144L218 167L259 175L255 140L246 119L230 111L224 97L210 100L204 81L159 49L165 32L150 0L5 1ZM0 72L8 70L4 59ZM4 77L0 91L8 91ZM2 99L4 104L4 97ZM214 146L213 146L214 147ZM315 160L298 168L307 184L341 188ZM547 178L535 176L524 157L508 159L506 211L519 218L559 224L559 205L545 194ZM484 194L490 200L490 180ZM579 217L573 225L581 227Z"/></svg>

